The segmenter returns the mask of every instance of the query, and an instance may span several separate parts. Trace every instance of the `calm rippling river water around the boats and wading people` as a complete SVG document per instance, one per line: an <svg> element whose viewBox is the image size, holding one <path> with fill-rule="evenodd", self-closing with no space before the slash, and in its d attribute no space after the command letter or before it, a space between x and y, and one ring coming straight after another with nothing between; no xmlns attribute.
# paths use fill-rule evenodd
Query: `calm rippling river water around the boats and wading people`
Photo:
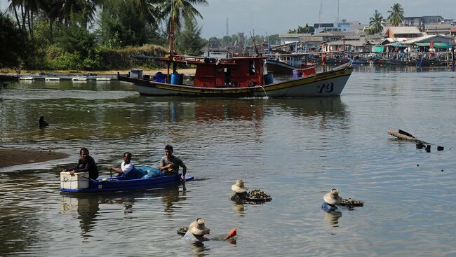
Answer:
<svg viewBox="0 0 456 257"><path fill-rule="evenodd" d="M8 84L0 146L69 158L0 170L0 256L456 256L455 77L361 67L340 97L302 99L141 97L118 81ZM38 128L39 116L49 127ZM158 166L166 144L194 181L59 193L59 171L81 146L99 167L119 165L124 151ZM229 201L236 179L272 201ZM326 214L331 188L365 206ZM183 241L177 228L198 217L213 237L239 228L236 244Z"/></svg>

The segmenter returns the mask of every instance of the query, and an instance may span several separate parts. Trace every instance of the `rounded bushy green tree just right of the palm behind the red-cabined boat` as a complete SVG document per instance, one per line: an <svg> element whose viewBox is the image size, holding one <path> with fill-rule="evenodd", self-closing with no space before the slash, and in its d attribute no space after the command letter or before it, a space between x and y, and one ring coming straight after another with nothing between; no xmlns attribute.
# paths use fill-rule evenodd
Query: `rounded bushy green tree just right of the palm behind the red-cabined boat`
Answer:
<svg viewBox="0 0 456 257"><path fill-rule="evenodd" d="M201 55L201 49L206 41L201 39L201 27L196 25L194 18L185 19L184 29L180 31L176 40L176 49L184 55Z"/></svg>

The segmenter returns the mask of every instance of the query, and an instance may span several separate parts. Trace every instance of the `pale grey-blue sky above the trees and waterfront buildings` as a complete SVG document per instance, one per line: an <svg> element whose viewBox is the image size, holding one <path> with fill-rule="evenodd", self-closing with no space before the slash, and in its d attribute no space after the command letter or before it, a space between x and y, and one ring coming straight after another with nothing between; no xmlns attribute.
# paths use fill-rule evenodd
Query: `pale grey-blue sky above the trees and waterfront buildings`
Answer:
<svg viewBox="0 0 456 257"><path fill-rule="evenodd" d="M133 0L130 0L133 1ZM201 36L222 38L227 33L251 32L255 35L283 34L288 29L304 27L306 23L358 21L368 24L377 9L384 18L395 3L401 4L405 16L441 15L456 20L455 0L207 0L207 6L195 6L203 15L199 20ZM8 0L0 0L0 11L8 6ZM321 8L323 6L323 8ZM322 10L320 15L320 10Z"/></svg>

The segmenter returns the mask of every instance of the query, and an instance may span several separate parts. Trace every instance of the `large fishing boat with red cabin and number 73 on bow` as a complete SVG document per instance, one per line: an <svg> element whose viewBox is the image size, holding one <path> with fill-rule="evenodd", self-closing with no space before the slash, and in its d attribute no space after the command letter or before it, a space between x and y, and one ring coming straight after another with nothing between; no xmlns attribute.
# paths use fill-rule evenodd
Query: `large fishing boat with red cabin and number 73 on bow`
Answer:
<svg viewBox="0 0 456 257"><path fill-rule="evenodd" d="M170 50L165 57L154 59L165 62L167 74L142 75L142 70L131 69L126 75L118 74L119 81L134 83L140 95L185 97L326 97L340 95L353 67L344 64L333 70L309 74L288 81L274 83L265 69L266 57L258 53L248 57L194 57L178 55L173 49L174 22L171 22ZM192 65L196 73L184 80L177 72L177 64ZM170 68L172 72L170 73ZM304 72L306 71L306 72ZM291 75L291 74L290 74ZM293 74L294 76L295 74ZM189 81L189 82L187 82Z"/></svg>

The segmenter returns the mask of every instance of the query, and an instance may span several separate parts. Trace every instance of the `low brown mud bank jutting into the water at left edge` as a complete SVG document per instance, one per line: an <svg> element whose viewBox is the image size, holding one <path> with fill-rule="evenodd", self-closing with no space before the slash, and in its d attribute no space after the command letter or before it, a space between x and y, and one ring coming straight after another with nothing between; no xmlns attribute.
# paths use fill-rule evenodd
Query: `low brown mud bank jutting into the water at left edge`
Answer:
<svg viewBox="0 0 456 257"><path fill-rule="evenodd" d="M0 168L67 158L66 153L27 149L0 148Z"/></svg>

